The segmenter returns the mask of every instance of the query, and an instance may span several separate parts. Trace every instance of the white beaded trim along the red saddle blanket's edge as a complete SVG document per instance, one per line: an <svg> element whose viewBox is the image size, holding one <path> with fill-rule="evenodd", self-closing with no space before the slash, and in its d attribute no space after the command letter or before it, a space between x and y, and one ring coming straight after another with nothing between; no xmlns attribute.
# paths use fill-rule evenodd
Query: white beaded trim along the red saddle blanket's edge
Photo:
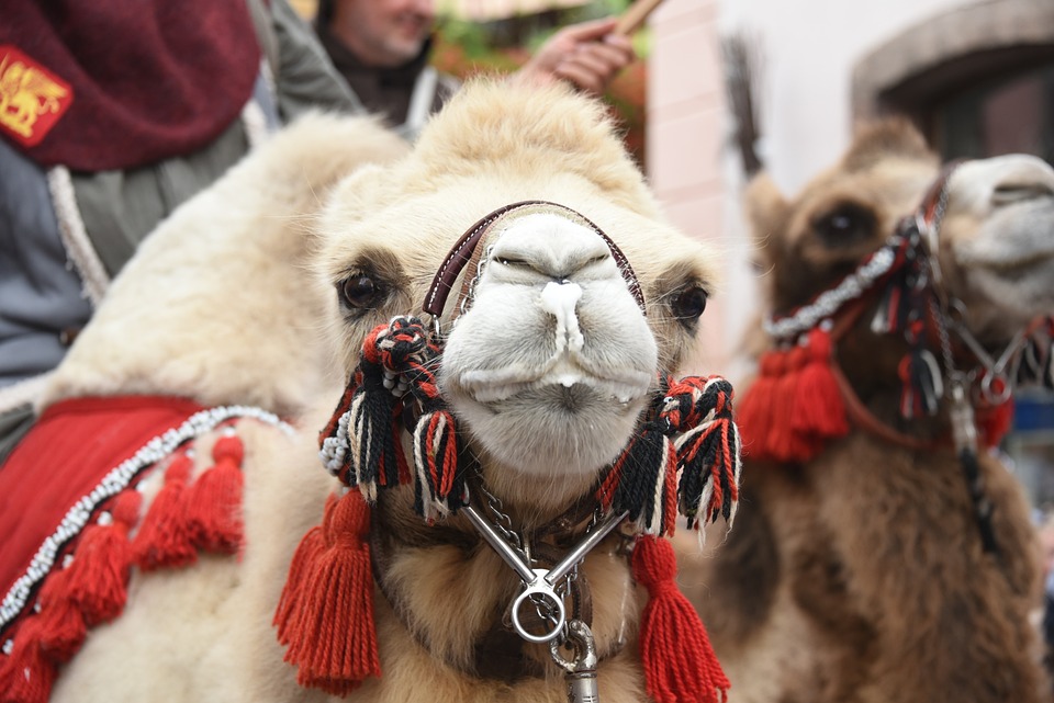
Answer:
<svg viewBox="0 0 1054 703"><path fill-rule="evenodd" d="M178 428L172 428L144 444L134 455L112 468L90 494L77 501L55 532L37 549L33 562L8 591L0 603L0 631L10 625L25 609L33 589L44 580L55 566L55 558L69 540L74 538L91 521L99 506L116 496L131 485L132 480L176 451L181 444L214 430L221 423L234 418L251 418L265 424L276 427L287 434L293 433L291 424L273 412L251 406L222 406L201 410L187 418Z"/></svg>

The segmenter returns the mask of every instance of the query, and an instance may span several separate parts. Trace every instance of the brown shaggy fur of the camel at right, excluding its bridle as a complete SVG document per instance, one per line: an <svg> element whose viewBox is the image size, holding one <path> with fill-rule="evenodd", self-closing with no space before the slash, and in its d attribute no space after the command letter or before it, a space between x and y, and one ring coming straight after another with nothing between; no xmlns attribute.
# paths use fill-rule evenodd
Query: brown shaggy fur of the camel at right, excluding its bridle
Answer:
<svg viewBox="0 0 1054 703"><path fill-rule="evenodd" d="M862 131L794 200L756 177L747 212L767 309L785 315L853 271L916 211L938 170L922 138L892 121ZM965 303L965 326L998 355L1054 310L1054 174L1031 157L973 161L952 173L949 195L940 285ZM1029 624L1039 582L1022 490L982 447L998 547L984 551L955 453L928 445L949 435L946 399L934 419L899 418L906 343L872 331L877 304L868 305L838 342L837 363L874 417L927 449L854 424L811 460L751 458L772 428L749 426L741 392L736 529L706 556L681 562L681 585L732 681L730 700L1049 700ZM960 368L977 364L954 351Z"/></svg>

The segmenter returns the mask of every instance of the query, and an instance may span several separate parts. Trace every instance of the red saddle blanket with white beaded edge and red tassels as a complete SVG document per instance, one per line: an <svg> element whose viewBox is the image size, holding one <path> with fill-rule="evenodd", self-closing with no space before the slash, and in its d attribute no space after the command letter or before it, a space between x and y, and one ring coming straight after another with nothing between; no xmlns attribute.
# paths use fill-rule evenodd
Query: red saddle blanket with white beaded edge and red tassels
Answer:
<svg viewBox="0 0 1054 703"><path fill-rule="evenodd" d="M0 703L43 703L88 630L116 617L133 568L187 566L242 542L242 442L226 429L194 472L194 440L269 412L184 398L76 398L49 407L0 466ZM201 462L199 462L200 464ZM164 483L143 510L137 490Z"/></svg>

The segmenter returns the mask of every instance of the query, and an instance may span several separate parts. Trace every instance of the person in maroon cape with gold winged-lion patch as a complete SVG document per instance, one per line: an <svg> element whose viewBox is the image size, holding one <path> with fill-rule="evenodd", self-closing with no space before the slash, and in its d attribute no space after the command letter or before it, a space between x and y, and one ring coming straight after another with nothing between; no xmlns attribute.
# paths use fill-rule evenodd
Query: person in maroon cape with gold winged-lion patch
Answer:
<svg viewBox="0 0 1054 703"><path fill-rule="evenodd" d="M287 0L0 3L0 464L139 241L313 106L363 110Z"/></svg>

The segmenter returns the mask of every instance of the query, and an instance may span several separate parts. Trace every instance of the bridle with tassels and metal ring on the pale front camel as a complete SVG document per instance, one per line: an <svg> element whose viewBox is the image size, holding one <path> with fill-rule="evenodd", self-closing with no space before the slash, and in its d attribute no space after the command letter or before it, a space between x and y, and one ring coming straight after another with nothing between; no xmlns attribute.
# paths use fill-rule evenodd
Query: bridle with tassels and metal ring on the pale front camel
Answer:
<svg viewBox="0 0 1054 703"><path fill-rule="evenodd" d="M676 589L676 563L663 536L673 534L677 514L699 529L718 517L731 521L739 495L739 434L732 421L732 388L718 376L674 381L660 376L659 393L620 456L601 475L590 496L592 519L584 535L551 568L531 557L529 544L509 530L495 507L478 464L441 397L437 374L445 342L440 320L462 271L453 321L472 305L485 258L482 246L504 226L532 213L550 213L599 236L615 259L641 311L643 294L615 242L583 215L545 201L501 207L476 222L455 243L425 296L425 324L401 316L374 328L333 418L321 433L321 456L345 489L327 501L321 525L309 532L294 555L274 622L289 645L285 660L299 667L303 685L344 694L367 677L379 677L372 617L370 504L382 489L414 487L414 510L428 524L464 515L520 578L511 608L512 627L527 642L548 644L564 670L569 699L597 701L597 654L585 619L564 598L586 554L613 531L630 535L632 572L650 600L643 611L640 651L649 694L659 703L718 701L728 680L714 657L698 615ZM472 275L474 272L474 275ZM444 321L442 326L452 322ZM403 453L403 434L413 456ZM383 591L383 588L382 588ZM534 608L543 623L538 634L523 613ZM336 639L336 640L334 640ZM561 654L570 649L570 659Z"/></svg>

